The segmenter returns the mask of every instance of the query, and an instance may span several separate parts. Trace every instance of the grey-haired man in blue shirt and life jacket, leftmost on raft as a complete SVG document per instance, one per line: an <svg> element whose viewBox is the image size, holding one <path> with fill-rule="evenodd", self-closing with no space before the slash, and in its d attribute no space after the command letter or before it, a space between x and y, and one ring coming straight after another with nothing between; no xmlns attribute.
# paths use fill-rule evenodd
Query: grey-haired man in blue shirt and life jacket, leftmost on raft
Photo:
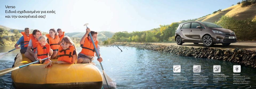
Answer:
<svg viewBox="0 0 256 89"><path fill-rule="evenodd" d="M21 44L21 45L23 45L23 44L26 44L26 43L28 43L29 42L29 40L31 39L30 38L30 36L32 35L32 34L30 34L30 29L29 28L25 28L24 29L24 32L21 32L21 34L23 35L23 36L21 36L21 38L19 38L19 40L17 41L17 43L14 45L14 47L16 48L16 49L19 49L19 44ZM21 50L20 50L20 52L22 53L22 54L25 54L25 52L27 51L27 46L28 46L29 44L26 44L25 46L21 46Z"/></svg>

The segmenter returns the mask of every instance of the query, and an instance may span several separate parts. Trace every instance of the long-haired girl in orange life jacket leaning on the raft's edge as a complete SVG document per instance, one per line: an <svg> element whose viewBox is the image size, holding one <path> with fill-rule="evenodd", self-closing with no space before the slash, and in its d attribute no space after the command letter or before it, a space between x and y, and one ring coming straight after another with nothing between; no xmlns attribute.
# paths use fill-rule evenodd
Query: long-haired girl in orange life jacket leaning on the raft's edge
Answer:
<svg viewBox="0 0 256 89"><path fill-rule="evenodd" d="M57 62L51 61L45 67L52 64L74 64L77 62L77 50L69 37L65 36L62 38L57 57Z"/></svg>

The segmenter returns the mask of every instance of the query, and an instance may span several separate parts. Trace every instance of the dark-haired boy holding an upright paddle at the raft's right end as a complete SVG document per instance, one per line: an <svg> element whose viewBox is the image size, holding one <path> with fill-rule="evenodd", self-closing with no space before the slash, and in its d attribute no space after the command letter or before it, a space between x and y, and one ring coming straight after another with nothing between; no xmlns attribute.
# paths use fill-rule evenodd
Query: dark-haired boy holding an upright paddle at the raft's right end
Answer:
<svg viewBox="0 0 256 89"><path fill-rule="evenodd" d="M94 44L96 46L96 49L94 49L93 43L91 41L91 37L89 35L89 32L92 35L92 39L94 41ZM89 28L86 29L85 35L83 35L80 46L82 47L82 51L77 56L77 63L91 63L91 61L94 59L95 50L98 51L99 58L97 59L99 62L102 61L101 54L99 51L99 45L97 41L97 32L90 31ZM95 64L94 64L95 65Z"/></svg>

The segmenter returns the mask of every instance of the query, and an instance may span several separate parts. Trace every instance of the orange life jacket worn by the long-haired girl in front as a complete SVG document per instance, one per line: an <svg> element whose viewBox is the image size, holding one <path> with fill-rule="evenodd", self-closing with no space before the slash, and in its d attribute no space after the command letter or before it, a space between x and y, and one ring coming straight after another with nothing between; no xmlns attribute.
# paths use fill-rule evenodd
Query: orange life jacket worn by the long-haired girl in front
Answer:
<svg viewBox="0 0 256 89"><path fill-rule="evenodd" d="M67 48L66 50L64 50L62 47L59 47L58 61L65 61L68 63L72 63L74 49L75 49L74 46L69 46L69 48Z"/></svg>

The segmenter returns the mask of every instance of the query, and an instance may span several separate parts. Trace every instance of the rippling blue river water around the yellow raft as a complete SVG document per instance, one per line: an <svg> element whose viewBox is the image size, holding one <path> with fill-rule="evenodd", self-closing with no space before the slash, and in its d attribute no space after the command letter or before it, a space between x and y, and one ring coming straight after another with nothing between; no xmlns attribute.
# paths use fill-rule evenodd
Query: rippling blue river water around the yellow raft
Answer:
<svg viewBox="0 0 256 89"><path fill-rule="evenodd" d="M13 48L0 47L0 52L7 52ZM101 47L102 65L105 73L117 83L118 89L134 88L256 88L256 68L241 65L241 73L233 73L233 65L229 61L205 58L183 57L165 52L138 50L127 47L121 52L116 47ZM78 52L81 48L77 48ZM0 59L0 70L11 68L14 57L19 50L15 50ZM96 58L93 60L101 70ZM173 72L173 65L181 65L181 73ZM193 65L201 65L201 73L193 73ZM221 73L213 73L213 65L221 65ZM174 81L173 74L186 78L185 81ZM205 84L194 84L193 74L206 76ZM213 82L213 74L225 74L226 80ZM240 74L249 84L233 84L233 74ZM0 77L0 88L13 88L11 73Z"/></svg>

